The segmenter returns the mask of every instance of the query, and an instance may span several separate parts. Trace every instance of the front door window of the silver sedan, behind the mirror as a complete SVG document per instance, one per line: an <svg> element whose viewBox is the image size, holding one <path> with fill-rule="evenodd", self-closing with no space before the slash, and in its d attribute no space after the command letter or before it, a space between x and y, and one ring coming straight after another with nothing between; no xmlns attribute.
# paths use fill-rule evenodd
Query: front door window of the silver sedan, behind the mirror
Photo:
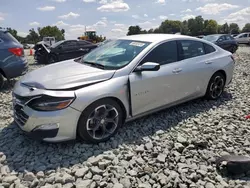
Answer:
<svg viewBox="0 0 250 188"><path fill-rule="evenodd" d="M178 61L177 43L176 41L169 41L160 44L153 49L140 64L146 62L159 63L160 65L173 63Z"/></svg>

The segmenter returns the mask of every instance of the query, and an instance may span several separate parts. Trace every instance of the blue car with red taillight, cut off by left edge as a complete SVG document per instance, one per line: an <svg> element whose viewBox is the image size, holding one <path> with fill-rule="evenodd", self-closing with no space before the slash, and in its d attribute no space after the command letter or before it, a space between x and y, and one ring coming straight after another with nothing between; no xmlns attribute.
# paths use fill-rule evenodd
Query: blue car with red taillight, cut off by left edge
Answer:
<svg viewBox="0 0 250 188"><path fill-rule="evenodd" d="M4 78L19 77L27 70L23 46L8 31L0 30L0 89L4 86Z"/></svg>

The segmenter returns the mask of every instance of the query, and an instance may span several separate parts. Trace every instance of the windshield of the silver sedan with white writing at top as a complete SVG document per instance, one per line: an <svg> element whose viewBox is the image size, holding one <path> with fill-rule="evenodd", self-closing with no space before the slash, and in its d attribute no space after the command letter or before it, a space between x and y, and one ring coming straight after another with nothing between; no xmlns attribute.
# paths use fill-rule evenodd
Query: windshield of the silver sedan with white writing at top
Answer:
<svg viewBox="0 0 250 188"><path fill-rule="evenodd" d="M150 43L112 40L85 55L82 63L95 63L104 69L120 69L129 64Z"/></svg>

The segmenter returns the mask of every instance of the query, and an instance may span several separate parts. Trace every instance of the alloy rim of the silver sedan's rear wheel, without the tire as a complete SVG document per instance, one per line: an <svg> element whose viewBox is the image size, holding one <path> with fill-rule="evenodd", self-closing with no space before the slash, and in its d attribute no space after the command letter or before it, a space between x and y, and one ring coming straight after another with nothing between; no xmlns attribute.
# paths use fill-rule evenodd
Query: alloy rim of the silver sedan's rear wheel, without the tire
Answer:
<svg viewBox="0 0 250 188"><path fill-rule="evenodd" d="M224 89L224 79L221 76L216 76L210 86L210 95L212 98L218 98Z"/></svg>

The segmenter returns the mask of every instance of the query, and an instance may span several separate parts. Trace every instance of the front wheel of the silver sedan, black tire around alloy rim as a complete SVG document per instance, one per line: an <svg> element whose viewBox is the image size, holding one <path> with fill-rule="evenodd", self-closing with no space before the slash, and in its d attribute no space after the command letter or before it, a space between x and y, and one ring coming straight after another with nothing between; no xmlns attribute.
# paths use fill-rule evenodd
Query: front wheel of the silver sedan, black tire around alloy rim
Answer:
<svg viewBox="0 0 250 188"><path fill-rule="evenodd" d="M110 110L108 113L113 113L114 116L115 113L117 113L117 117L118 119L115 119L114 122L105 122L104 119L112 119L112 118L107 118L104 117L105 115L103 115L103 117L98 117L96 116L95 113L102 114L102 110L106 109L102 106L106 105L106 107L108 106L108 110L112 108L114 108L115 110ZM103 108L103 109L101 109ZM98 112L97 112L98 111ZM94 113L94 115L93 115ZM102 115L100 115L102 116ZM82 115L80 116L79 120L78 120L78 125L77 125L77 135L81 140L86 141L87 143L92 143L92 144L98 144L100 142L105 142L107 140L109 140L112 136L114 136L117 131L119 130L119 128L122 126L123 124L123 111L121 106L115 102L112 99L101 99L98 100L94 103L92 103L91 105L89 105L83 112ZM92 125L91 125L91 121L92 121ZM104 121L104 122L102 122ZM112 125L111 125L112 124ZM91 129L89 128L90 125L92 126ZM111 128L111 130L108 129L108 127L114 126L113 128ZM105 127L105 128L104 128ZM94 130L96 129L96 130ZM106 131L110 131L110 133L107 133L108 135L105 135L103 137L98 137L98 133L102 134L101 132L103 132L103 129ZM104 131L104 132L106 132ZM95 132L95 133L94 133ZM106 133L103 133L106 134ZM95 135L95 136L94 136ZM96 137L96 138L94 138Z"/></svg>

